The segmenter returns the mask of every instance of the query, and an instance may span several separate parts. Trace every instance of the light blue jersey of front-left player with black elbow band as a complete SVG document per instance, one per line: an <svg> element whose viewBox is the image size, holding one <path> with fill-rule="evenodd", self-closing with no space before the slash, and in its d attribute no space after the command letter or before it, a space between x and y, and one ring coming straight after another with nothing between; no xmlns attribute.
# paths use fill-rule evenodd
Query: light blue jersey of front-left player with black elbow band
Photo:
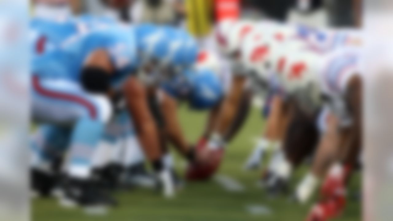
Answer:
<svg viewBox="0 0 393 221"><path fill-rule="evenodd" d="M116 84L135 68L136 44L129 28L110 26L76 35L59 50L33 59L33 74L44 78L66 78L79 81L84 61L95 50L106 50L110 55Z"/></svg>

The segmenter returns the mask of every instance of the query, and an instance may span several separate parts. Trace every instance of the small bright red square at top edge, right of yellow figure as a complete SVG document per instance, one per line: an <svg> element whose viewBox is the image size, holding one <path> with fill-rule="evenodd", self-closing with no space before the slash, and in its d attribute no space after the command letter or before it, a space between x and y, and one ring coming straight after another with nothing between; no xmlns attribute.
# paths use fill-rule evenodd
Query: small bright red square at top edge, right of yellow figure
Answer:
<svg viewBox="0 0 393 221"><path fill-rule="evenodd" d="M237 20L240 17L241 0L215 0L216 22L226 19Z"/></svg>

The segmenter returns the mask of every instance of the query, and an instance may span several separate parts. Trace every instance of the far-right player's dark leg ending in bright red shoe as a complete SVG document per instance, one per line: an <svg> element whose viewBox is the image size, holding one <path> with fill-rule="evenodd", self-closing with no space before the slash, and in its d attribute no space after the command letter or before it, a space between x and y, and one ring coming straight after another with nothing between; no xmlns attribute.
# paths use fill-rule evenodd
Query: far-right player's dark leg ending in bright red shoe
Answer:
<svg viewBox="0 0 393 221"><path fill-rule="evenodd" d="M351 124L346 127L338 125L336 128L340 131L336 158L323 182L321 201L312 208L309 217L331 219L341 214L346 204L346 186L362 149L362 80L360 76L353 76L347 85L344 101L351 116Z"/></svg>

